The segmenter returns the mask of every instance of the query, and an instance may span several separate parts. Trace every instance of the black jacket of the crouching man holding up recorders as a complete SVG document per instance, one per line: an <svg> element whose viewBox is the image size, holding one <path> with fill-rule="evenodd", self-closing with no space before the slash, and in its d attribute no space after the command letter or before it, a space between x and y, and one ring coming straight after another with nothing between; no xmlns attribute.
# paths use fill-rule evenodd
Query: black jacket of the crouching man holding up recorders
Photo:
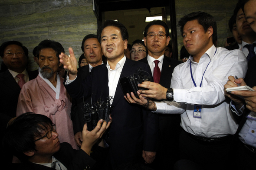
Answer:
<svg viewBox="0 0 256 170"><path fill-rule="evenodd" d="M60 150L53 155L68 170L92 170L96 161L83 150L75 150L69 143L61 143ZM8 167L8 166L7 166ZM8 170L53 170L32 162L22 164L10 164ZM87 170L87 169L86 169Z"/></svg>

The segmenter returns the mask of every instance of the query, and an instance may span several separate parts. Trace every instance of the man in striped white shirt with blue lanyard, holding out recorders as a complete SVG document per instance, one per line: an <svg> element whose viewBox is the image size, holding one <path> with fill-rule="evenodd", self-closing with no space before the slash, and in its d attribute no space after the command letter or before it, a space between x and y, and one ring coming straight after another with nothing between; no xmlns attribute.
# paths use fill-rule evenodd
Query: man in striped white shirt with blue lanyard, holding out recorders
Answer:
<svg viewBox="0 0 256 170"><path fill-rule="evenodd" d="M216 48L217 25L213 16L194 12L179 21L183 43L190 57L175 67L171 88L143 82L140 99L125 96L131 103L147 106L147 99L168 101L149 102L148 109L163 114L181 114L181 159L191 160L203 169L223 169L228 158L232 135L238 127L226 101L223 85L226 75L245 77L247 60L240 50ZM201 112L194 112L200 106ZM171 135L171 134L170 134Z"/></svg>

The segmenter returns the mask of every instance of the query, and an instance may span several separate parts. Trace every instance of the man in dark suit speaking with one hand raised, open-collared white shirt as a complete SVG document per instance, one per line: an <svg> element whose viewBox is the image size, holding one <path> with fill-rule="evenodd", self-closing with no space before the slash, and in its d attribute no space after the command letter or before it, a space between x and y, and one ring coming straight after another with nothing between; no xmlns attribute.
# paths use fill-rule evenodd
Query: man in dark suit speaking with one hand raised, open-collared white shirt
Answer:
<svg viewBox="0 0 256 170"><path fill-rule="evenodd" d="M138 67L151 74L150 68L125 57L128 32L120 22L105 21L98 28L97 36L107 64L94 67L81 82L76 79L77 61L72 48L69 48L70 57L63 53L60 55L60 62L69 71L65 87L73 98L86 98L92 94L92 102L113 96L110 100L113 122L105 138L110 146L108 158L112 169L124 163L141 162L142 157L146 163L151 163L156 154L158 116L128 103L118 83L119 78L134 74Z"/></svg>

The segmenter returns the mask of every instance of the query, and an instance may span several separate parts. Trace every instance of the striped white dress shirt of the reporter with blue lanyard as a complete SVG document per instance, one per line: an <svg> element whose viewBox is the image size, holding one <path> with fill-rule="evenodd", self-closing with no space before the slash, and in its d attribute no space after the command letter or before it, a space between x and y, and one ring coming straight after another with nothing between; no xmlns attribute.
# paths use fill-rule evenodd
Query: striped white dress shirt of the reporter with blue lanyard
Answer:
<svg viewBox="0 0 256 170"><path fill-rule="evenodd" d="M197 87L190 75L190 61ZM182 128L196 136L219 138L234 134L238 125L234 122L229 103L225 101L223 86L230 75L245 77L246 71L247 60L242 51L229 51L213 45L199 63L190 56L187 62L174 68L171 88L176 102L156 103L156 112L181 113ZM201 118L194 118L194 105L202 105Z"/></svg>

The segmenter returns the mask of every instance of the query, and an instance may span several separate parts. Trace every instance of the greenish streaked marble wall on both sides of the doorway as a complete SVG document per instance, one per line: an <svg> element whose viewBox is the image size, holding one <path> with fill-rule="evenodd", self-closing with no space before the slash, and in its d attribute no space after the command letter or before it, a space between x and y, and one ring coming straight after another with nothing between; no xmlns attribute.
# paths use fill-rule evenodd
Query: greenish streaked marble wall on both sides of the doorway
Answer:
<svg viewBox="0 0 256 170"><path fill-rule="evenodd" d="M236 0L175 0L176 20L191 12L204 11L217 20L218 47L223 47L231 33L228 20ZM96 34L97 20L92 0L1 0L0 44L20 41L29 49L29 70L36 70L33 48L44 39L60 42L66 53L72 47L77 59L82 54L81 42L85 35ZM177 28L178 50L183 45ZM2 59L0 58L0 63Z"/></svg>

